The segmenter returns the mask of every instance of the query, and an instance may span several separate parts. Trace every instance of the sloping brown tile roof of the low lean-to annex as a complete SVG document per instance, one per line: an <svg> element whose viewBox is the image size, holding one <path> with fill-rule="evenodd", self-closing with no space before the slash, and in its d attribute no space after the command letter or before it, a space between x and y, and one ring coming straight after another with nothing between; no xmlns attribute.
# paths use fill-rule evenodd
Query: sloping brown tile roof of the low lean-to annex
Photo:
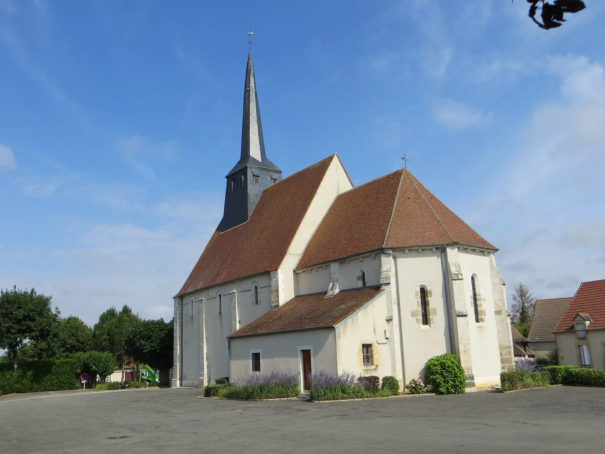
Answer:
<svg viewBox="0 0 605 454"><path fill-rule="evenodd" d="M379 287L364 287L340 291L332 298L325 298L325 292L299 295L280 308L266 312L229 337L332 327L381 292Z"/></svg>

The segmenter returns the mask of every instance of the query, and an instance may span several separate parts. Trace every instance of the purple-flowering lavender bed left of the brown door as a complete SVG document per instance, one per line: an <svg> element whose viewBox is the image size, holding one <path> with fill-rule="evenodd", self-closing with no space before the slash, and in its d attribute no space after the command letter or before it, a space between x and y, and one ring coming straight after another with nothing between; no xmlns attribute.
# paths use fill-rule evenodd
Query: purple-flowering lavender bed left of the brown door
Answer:
<svg viewBox="0 0 605 454"><path fill-rule="evenodd" d="M254 373L235 377L233 383L220 386L218 397L232 399L279 399L295 397L299 394L298 373L290 369L273 369L269 373Z"/></svg>

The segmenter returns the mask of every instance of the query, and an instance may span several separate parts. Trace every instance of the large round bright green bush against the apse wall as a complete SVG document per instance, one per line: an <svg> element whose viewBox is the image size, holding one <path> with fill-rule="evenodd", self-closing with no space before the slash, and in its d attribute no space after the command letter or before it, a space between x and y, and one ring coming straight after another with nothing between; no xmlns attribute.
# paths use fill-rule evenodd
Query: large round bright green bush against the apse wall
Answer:
<svg viewBox="0 0 605 454"><path fill-rule="evenodd" d="M456 355L445 353L431 358L424 365L425 383L437 394L466 392L466 375Z"/></svg>

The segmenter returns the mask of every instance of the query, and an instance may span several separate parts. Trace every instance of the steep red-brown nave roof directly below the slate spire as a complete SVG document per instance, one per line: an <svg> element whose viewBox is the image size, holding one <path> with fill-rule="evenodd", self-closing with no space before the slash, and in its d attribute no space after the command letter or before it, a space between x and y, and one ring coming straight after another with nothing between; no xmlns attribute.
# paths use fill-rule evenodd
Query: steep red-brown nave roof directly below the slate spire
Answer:
<svg viewBox="0 0 605 454"><path fill-rule="evenodd" d="M177 295L280 267L336 154L263 191L248 222L214 232Z"/></svg>

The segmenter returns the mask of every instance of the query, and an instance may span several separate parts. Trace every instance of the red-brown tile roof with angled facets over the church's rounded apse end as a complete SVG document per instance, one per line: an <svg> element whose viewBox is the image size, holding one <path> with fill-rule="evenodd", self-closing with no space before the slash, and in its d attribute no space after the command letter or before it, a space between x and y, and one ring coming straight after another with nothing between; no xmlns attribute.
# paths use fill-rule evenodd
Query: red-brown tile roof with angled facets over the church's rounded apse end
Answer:
<svg viewBox="0 0 605 454"><path fill-rule="evenodd" d="M496 249L401 169L336 197L297 268L383 247L451 243Z"/></svg>

